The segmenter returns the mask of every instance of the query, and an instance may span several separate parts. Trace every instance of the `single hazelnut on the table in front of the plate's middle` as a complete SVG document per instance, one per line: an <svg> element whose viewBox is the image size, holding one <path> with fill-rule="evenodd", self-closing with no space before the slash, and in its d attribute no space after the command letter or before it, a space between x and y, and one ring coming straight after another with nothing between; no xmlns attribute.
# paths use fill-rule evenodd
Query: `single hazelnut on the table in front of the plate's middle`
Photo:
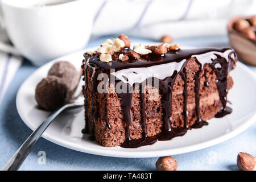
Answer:
<svg viewBox="0 0 256 182"><path fill-rule="evenodd" d="M177 162L172 156L160 157L155 163L156 169L158 171L176 171Z"/></svg>

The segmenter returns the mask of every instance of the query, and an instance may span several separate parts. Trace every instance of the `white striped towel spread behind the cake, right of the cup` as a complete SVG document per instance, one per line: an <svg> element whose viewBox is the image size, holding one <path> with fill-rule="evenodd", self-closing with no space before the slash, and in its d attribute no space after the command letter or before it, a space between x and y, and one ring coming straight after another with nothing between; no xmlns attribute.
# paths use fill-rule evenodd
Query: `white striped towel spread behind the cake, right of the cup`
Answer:
<svg viewBox="0 0 256 182"><path fill-rule="evenodd" d="M125 33L159 40L225 35L229 19L256 14L254 0L98 0L93 36Z"/></svg>

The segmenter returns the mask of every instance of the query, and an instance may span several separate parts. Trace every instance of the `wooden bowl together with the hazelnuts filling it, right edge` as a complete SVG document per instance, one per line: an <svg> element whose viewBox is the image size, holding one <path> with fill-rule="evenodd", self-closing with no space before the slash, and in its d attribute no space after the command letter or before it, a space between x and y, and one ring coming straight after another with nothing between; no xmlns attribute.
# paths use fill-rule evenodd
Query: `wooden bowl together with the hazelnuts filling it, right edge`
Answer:
<svg viewBox="0 0 256 182"><path fill-rule="evenodd" d="M254 16L236 17L228 23L229 43L240 60L256 66L256 27Z"/></svg>

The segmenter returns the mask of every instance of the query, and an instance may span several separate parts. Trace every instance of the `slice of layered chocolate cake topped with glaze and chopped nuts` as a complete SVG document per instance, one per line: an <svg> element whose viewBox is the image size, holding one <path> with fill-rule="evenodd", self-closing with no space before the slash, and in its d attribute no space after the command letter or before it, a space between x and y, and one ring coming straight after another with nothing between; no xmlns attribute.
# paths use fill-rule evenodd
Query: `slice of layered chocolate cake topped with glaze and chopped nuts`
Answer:
<svg viewBox="0 0 256 182"><path fill-rule="evenodd" d="M236 65L231 48L179 49L142 44L125 35L84 54L85 129L105 147L134 148L170 140L226 106Z"/></svg>

